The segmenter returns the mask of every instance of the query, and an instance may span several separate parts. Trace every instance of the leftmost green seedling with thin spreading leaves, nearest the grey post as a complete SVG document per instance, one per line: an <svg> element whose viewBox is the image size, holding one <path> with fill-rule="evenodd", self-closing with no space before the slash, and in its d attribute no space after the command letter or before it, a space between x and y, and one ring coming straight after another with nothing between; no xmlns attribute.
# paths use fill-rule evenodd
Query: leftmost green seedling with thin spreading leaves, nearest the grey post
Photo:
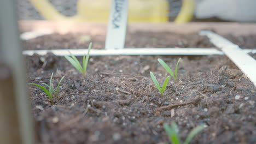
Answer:
<svg viewBox="0 0 256 144"><path fill-rule="evenodd" d="M50 83L49 83L49 85L47 85L46 83L42 83L43 85L45 85L46 87L49 88L49 91L48 91L46 88L44 88L43 86L40 86L40 85L38 85L38 84L36 84L36 83L29 83L29 85L37 86L37 87L39 87L40 89L42 89L42 90L48 95L48 97L49 97L49 99L51 100L51 102L53 102L53 94L57 97L57 99L59 99L60 83L61 83L61 81L62 81L62 80L64 79L64 77L65 77L65 76L62 76L62 77L61 77L61 80L60 80L59 84L57 85L56 91L55 91L54 88L53 88L53 74L54 74L54 73L51 74L51 78L50 78Z"/></svg>

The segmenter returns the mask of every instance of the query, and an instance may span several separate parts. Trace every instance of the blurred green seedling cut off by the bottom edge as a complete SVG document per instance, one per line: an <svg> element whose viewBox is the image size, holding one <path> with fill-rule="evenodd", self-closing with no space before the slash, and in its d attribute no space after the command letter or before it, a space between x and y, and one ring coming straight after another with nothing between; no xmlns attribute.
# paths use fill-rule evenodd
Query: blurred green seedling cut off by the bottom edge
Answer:
<svg viewBox="0 0 256 144"><path fill-rule="evenodd" d="M179 140L179 134L178 134L178 127L176 123L172 123L171 127L164 123L164 129L170 139L170 142L172 144L181 144L181 140ZM190 131L189 135L187 136L187 138L185 139L185 142L183 142L183 144L188 144L193 137L198 134L200 131L203 130L203 126L199 125L197 127L195 127L193 130Z"/></svg>

